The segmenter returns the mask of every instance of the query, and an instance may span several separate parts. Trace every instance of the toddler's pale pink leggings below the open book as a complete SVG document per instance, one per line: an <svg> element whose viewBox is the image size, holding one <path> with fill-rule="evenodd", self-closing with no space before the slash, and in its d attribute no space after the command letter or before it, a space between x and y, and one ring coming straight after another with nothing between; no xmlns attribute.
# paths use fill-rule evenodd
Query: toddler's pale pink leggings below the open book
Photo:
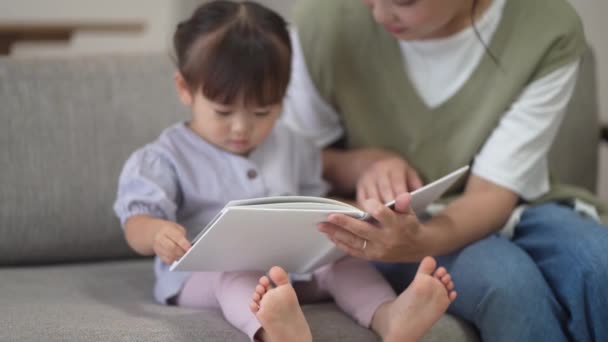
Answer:
<svg viewBox="0 0 608 342"><path fill-rule="evenodd" d="M220 308L228 322L253 337L261 328L249 310L251 296L263 272L197 272L177 298L179 306ZM395 292L365 260L346 257L323 266L308 282L295 282L301 304L333 298L338 307L369 328L378 307L393 300Z"/></svg>

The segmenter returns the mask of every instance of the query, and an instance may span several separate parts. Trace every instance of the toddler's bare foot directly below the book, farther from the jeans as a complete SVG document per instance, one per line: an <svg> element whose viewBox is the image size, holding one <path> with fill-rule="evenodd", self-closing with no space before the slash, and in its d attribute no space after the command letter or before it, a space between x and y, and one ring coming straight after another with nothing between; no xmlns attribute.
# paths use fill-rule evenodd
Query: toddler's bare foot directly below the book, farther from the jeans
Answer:
<svg viewBox="0 0 608 342"><path fill-rule="evenodd" d="M312 334L287 273L280 267L260 278L249 307L262 324L256 338L262 341L312 341Z"/></svg>

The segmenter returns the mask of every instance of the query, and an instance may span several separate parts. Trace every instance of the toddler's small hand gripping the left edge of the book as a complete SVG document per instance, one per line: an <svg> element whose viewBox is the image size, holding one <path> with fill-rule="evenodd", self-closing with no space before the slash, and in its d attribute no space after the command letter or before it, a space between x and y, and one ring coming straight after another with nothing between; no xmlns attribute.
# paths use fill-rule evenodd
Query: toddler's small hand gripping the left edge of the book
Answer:
<svg viewBox="0 0 608 342"><path fill-rule="evenodd" d="M186 230L174 222L163 222L154 236L154 253L167 265L181 258L190 247Z"/></svg>

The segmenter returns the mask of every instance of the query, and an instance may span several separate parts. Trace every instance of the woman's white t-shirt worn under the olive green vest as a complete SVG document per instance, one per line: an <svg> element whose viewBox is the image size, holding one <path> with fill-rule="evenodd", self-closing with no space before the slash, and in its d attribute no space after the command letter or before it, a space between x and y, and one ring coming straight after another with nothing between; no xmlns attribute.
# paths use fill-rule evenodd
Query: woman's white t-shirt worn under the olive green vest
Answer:
<svg viewBox="0 0 608 342"><path fill-rule="evenodd" d="M476 27L490 42L506 0L493 0ZM313 84L297 31L293 44L292 79L283 120L320 147L344 131L338 113ZM404 72L431 108L447 101L467 82L486 53L473 27L442 39L402 41ZM500 61L499 61L500 62ZM565 65L523 89L475 157L473 174L531 200L549 191L547 152L557 134L576 84L579 61Z"/></svg>

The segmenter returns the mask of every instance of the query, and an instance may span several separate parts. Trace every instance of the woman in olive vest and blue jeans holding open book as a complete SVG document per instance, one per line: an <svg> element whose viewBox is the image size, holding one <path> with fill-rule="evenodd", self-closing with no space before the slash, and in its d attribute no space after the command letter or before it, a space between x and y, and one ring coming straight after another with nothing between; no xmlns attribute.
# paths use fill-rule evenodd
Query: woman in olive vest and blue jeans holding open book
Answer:
<svg viewBox="0 0 608 342"><path fill-rule="evenodd" d="M547 167L585 48L572 8L363 3L309 0L296 15L285 120L327 147L326 178L378 221L332 215L320 229L371 260L440 256L458 284L449 311L484 339L608 340L608 230L555 201L581 192ZM329 147L342 135L346 150ZM460 196L424 223L399 195L469 163ZM384 208L396 195L396 212ZM511 240L494 234L507 222ZM411 265L379 267L402 287Z"/></svg>

